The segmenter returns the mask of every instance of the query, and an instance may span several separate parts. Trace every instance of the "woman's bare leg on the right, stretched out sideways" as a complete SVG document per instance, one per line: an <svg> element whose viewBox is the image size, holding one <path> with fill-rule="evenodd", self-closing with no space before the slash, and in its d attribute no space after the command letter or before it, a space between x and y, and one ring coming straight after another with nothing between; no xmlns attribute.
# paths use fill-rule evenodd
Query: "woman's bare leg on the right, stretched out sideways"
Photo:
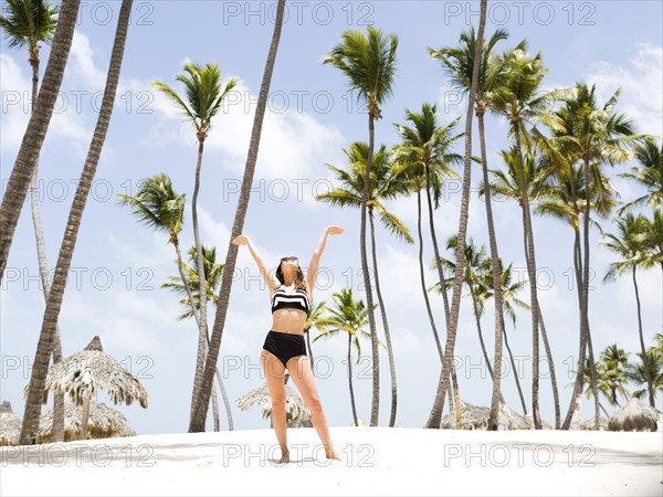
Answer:
<svg viewBox="0 0 663 497"><path fill-rule="evenodd" d="M295 382L297 390L302 394L306 406L311 411L311 421L315 427L323 445L325 446L325 455L328 459L343 461L340 455L334 450L332 437L329 436L329 427L327 417L323 411L323 404L315 385L313 371L311 370L311 361L306 356L297 356L287 361L287 369L291 378Z"/></svg>

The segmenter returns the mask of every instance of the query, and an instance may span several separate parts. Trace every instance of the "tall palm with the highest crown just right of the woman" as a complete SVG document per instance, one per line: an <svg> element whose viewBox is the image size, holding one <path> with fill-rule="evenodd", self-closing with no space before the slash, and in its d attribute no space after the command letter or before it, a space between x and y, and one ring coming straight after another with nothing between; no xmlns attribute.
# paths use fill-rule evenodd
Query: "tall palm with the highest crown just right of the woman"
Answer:
<svg viewBox="0 0 663 497"><path fill-rule="evenodd" d="M393 92L396 74L396 49L398 36L385 36L382 31L368 28L367 35L357 30L346 30L340 35L340 43L323 57L323 64L332 64L347 76L351 89L357 92L357 98L364 98L368 109L368 154L366 157L366 180L361 192L361 229L359 246L361 254L361 273L366 288L368 306L368 324L372 350L372 402L370 409L370 425L377 426L380 402L380 357L378 353L378 334L373 316L372 288L368 273L366 255L366 208L368 203L368 187L372 167L375 147L375 120L382 117L380 105Z"/></svg>

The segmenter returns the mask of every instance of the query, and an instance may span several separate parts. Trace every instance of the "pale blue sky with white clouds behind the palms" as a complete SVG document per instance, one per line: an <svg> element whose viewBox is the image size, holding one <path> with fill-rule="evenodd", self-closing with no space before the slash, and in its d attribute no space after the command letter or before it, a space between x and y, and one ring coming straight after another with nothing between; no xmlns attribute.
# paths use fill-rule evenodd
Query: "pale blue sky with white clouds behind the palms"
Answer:
<svg viewBox="0 0 663 497"><path fill-rule="evenodd" d="M275 1L135 1L117 98L95 181L87 200L69 284L60 314L64 356L83 349L99 336L104 350L115 357L146 388L149 405L116 409L140 434L186 432L189 422L196 364L197 329L192 320L177 321L178 298L160 288L177 273L168 236L136 221L117 195L135 194L139 181L167 173L177 192L187 194L182 252L193 244L191 197L197 141L192 126L150 85L161 81L182 91L175 77L188 61L219 63L224 81L239 80L213 120L206 140L199 195L202 242L215 246L222 262L239 200L240 183L272 36ZM1 7L6 9L6 3ZM76 183L96 123L113 44L119 2L82 2L61 94L40 157L40 200L51 274L74 199ZM504 29L509 38L496 50L526 39L530 53L540 52L548 73L543 89L596 84L599 102L621 88L618 110L628 114L639 133L663 136L663 12L656 1L488 2L486 35ZM428 55L428 47L457 43L462 31L478 23L478 2L441 1L299 1L288 2L264 119L254 182L243 233L267 263L276 267L283 255L299 256L307 267L311 254L328 225L345 233L330 236L320 261L314 290L316 302L333 302L344 287L365 299L359 253L359 210L333 208L315 200L336 183L325 165L345 167L343 149L368 140L367 114L349 93L337 70L323 65L323 56L347 29L369 25L398 35L393 95L382 105L376 123L376 145L398 142L394 123L406 123L406 110L420 110L424 102L438 105L439 120L448 125L465 115L462 95L452 89L448 74ZM0 165L2 194L30 113L31 72L24 51L0 44ZM41 74L49 47L42 49ZM463 121L456 127L463 129ZM474 136L476 137L476 124ZM499 151L509 145L507 123L486 119L488 166L501 168ZM462 152L463 140L455 150ZM478 155L477 139L473 154ZM609 171L623 201L642 194L639 187L617 175L634 162ZM609 168L609 167L607 167ZM485 205L478 198L480 170L473 170L469 237L486 244ZM441 246L457 232L460 184L449 181L434 213ZM414 197L386 202L414 235ZM651 212L649 212L651 215ZM515 277L526 279L522 221L518 207L494 202L499 255L513 263ZM555 357L562 415L568 409L578 353L577 288L572 272L572 231L560 221L535 216L539 300ZM377 253L380 283L394 348L398 376L397 425L423 426L438 385L441 363L425 313L419 279L418 245L389 235L379 223ZM608 232L614 222L602 221ZM425 284L435 282L433 258L423 222ZM591 234L589 314L594 353L617 342L635 360L638 321L632 281L602 278L614 256ZM449 254L445 254L449 255ZM663 328L662 279L657 271L639 272L644 338L648 346ZM27 200L13 237L0 290L1 400L22 415L23 388L41 330L44 297L39 283L34 231ZM464 289L463 295L466 294ZM528 302L528 289L520 297ZM431 295L436 328L444 341L444 313L440 296ZM214 309L210 307L210 329ZM376 316L380 339L381 321ZM491 357L494 311L486 306L482 326ZM235 430L269 426L261 409L242 412L235 400L264 383L260 350L271 328L269 292L246 247L241 247L223 331L219 368L223 374ZM532 404L532 321L519 310L516 327L507 325L517 371L507 367L502 384L506 402L522 412L515 378L522 382L527 410ZM314 332L314 337L317 334ZM370 419L371 355L364 341L354 369L360 419ZM490 405L492 384L482 359L471 302L461 304L456 339L460 393L465 402ZM543 355L543 348L541 348ZM316 385L332 426L352 423L347 376L347 340L337 337L314 343ZM390 412L388 357L380 351L380 416ZM554 422L554 404L546 363L541 364L540 409ZM633 385L631 385L633 387ZM52 404L50 398L49 405ZM105 392L97 401L112 405ZM657 405L663 403L659 396ZM607 409L608 403L603 400ZM45 409L45 408L44 408ZM592 414L585 401L582 419ZM221 415L221 427L228 420ZM211 415L208 415L211 430Z"/></svg>

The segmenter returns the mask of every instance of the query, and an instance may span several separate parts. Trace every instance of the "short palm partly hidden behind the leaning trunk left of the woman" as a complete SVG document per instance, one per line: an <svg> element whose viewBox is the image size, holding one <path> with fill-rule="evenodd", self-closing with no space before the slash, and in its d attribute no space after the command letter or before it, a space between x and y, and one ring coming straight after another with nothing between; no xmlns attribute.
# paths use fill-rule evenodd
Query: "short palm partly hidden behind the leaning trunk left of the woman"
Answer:
<svg viewBox="0 0 663 497"><path fill-rule="evenodd" d="M198 251L196 245L189 248L189 264L183 263L182 268L188 276L188 285L191 287L191 293L193 295L194 304L191 305L189 297L187 296L187 288L183 285L182 278L180 276L169 276L170 282L161 284L161 288L169 288L178 295L182 295L182 299L180 304L186 307L186 310L178 316L177 320L181 321L183 319L188 319L193 317L193 309L198 309L200 314L200 295L199 295L199 282L200 273L204 273L207 282L204 287L207 288L208 300L212 302L214 306L219 302L219 297L214 294L217 288L219 287L219 283L221 281L221 275L223 273L223 264L217 264L217 247L206 248L202 245L202 257L204 263L204 271L198 271ZM200 317L202 319L202 316ZM207 327L206 327L207 329ZM209 347L209 337L204 340L203 353L207 355ZM229 430L233 430L232 422L232 411L230 406L230 400L228 399L228 393L225 391L225 385L223 383L223 378L221 373L217 369L217 382L219 383L219 388L221 389L221 395L223 396L223 403L225 405L225 413L228 415L228 425ZM214 413L214 431L218 432L220 430L219 423L219 400L217 396L217 391L212 390L212 412Z"/></svg>

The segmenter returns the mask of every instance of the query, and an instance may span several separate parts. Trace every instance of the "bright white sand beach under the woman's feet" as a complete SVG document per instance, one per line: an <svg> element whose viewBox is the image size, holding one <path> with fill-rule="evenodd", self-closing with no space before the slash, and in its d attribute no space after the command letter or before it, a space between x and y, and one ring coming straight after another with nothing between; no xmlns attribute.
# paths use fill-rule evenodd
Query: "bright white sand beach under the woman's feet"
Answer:
<svg viewBox="0 0 663 497"><path fill-rule="evenodd" d="M3 447L0 495L651 495L663 435L332 427L140 435ZM298 445L301 444L301 445Z"/></svg>

